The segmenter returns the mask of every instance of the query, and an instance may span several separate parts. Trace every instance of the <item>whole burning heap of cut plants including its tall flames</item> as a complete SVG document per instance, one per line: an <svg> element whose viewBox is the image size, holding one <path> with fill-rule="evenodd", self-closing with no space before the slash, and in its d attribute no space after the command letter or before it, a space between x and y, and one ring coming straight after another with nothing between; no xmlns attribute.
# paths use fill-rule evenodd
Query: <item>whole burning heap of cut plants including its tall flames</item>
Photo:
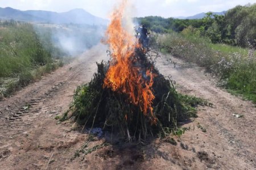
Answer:
<svg viewBox="0 0 256 170"><path fill-rule="evenodd" d="M195 110L181 100L171 80L159 73L142 45L123 28L124 9L125 3L114 11L106 31L110 61L97 64L92 81L77 88L69 117L86 128L100 127L141 141L175 130L177 122L195 115Z"/></svg>

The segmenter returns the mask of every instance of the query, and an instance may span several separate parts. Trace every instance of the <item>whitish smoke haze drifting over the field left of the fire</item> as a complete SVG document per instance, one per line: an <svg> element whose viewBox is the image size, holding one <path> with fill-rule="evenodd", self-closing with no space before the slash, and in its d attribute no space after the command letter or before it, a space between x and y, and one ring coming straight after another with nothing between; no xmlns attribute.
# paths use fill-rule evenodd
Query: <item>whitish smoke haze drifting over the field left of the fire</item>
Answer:
<svg viewBox="0 0 256 170"><path fill-rule="evenodd" d="M36 24L35 29L42 41L50 35L51 42L63 55L76 56L98 44L104 36L106 26L89 26L85 24ZM50 39L50 40L49 40Z"/></svg>

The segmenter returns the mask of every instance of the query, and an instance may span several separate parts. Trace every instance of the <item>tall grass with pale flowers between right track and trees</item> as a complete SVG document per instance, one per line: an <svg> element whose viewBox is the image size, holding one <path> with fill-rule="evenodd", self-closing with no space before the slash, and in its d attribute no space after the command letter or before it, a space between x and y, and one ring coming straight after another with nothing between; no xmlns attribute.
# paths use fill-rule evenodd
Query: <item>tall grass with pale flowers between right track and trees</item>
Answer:
<svg viewBox="0 0 256 170"><path fill-rule="evenodd" d="M220 84L234 93L243 94L256 102L256 55L249 56L246 48L212 44L195 32L158 35L162 52L171 53L205 67L220 77Z"/></svg>

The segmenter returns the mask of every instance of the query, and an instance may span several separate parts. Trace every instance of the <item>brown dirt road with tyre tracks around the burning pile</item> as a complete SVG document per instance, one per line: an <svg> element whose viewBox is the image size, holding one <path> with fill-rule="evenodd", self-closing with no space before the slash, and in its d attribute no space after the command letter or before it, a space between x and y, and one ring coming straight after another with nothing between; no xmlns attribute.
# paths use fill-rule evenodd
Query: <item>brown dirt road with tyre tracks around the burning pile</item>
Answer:
<svg viewBox="0 0 256 170"><path fill-rule="evenodd" d="M90 81L97 69L95 62L106 58L105 47L94 47L0 102L0 169L256 168L256 107L217 88L203 69L173 57L176 67L161 57L156 64L159 71L171 74L181 93L214 104L199 107L199 118L184 125L191 130L181 136L177 146L155 140L142 148L96 148L104 142L100 139L88 144L96 151L79 155L77 150L84 146L87 135L73 131L72 122L58 123L54 118L68 109L76 86Z"/></svg>

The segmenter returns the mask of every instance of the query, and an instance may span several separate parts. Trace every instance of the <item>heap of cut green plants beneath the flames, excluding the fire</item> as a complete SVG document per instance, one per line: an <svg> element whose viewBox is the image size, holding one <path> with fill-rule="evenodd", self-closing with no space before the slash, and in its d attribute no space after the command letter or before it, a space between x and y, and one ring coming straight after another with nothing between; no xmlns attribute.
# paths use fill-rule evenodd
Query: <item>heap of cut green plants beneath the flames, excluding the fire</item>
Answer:
<svg viewBox="0 0 256 170"><path fill-rule="evenodd" d="M140 55L144 54L140 53ZM141 58L144 57L141 56ZM105 73L108 70L108 64L104 64L103 61L97 64L98 71L94 74L92 81L77 87L71 109L65 113L62 120L71 115L71 118L86 128L101 127L117 133L120 137L128 138L130 141L141 141L149 136L155 137L162 132L165 134L166 127L170 132L175 131L177 122L196 117L196 110L192 105L195 107L200 104L200 101L178 94L172 82L166 80L154 68L151 61L144 58L143 64L153 68L152 73L156 74L152 86L155 96L152 106L154 117L157 119L155 125L139 106L129 102L126 94L113 92L103 87Z"/></svg>

